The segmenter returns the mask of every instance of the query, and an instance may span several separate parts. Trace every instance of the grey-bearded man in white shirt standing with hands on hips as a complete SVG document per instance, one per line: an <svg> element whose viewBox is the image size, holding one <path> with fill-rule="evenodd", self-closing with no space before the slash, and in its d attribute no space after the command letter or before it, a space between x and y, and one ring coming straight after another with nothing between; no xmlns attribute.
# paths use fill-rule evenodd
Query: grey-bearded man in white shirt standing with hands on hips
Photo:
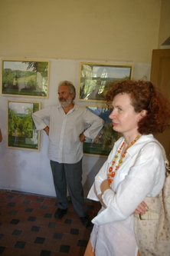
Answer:
<svg viewBox="0 0 170 256"><path fill-rule="evenodd" d="M83 141L96 138L103 127L103 119L74 103L76 89L70 81L58 86L59 105L48 106L33 113L37 130L44 130L49 137L48 158L54 187L57 194L57 211L54 217L60 219L67 214L67 188L74 211L82 224L90 226L91 221L84 204L82 185ZM45 120L49 121L49 126Z"/></svg>

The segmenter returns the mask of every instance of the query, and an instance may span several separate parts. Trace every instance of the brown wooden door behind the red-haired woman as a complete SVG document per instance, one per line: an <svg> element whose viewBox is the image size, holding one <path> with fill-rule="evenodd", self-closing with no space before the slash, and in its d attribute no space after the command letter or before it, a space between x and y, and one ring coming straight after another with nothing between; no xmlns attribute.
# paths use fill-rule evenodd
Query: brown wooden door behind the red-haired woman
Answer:
<svg viewBox="0 0 170 256"><path fill-rule="evenodd" d="M153 50L150 81L158 86L170 100L170 49ZM165 148L170 161L170 128L162 134L155 135Z"/></svg>

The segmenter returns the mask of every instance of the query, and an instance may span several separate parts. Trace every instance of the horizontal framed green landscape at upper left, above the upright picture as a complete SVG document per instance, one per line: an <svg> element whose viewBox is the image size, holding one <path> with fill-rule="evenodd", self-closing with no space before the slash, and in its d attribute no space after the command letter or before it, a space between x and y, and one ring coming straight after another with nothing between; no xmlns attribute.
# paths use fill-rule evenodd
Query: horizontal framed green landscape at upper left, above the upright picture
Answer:
<svg viewBox="0 0 170 256"><path fill-rule="evenodd" d="M47 61L2 59L2 95L48 98Z"/></svg>

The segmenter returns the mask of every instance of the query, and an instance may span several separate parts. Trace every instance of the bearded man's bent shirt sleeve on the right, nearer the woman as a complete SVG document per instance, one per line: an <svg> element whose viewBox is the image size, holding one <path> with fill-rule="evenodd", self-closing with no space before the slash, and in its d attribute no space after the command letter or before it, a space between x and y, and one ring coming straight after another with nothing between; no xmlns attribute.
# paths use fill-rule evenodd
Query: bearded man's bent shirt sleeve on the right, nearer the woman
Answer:
<svg viewBox="0 0 170 256"><path fill-rule="evenodd" d="M100 118L98 115L93 114L88 109L86 109L84 121L89 125L86 131L83 132L83 134L87 138L96 138L96 135L98 135L100 129L104 125L104 121L102 118Z"/></svg>

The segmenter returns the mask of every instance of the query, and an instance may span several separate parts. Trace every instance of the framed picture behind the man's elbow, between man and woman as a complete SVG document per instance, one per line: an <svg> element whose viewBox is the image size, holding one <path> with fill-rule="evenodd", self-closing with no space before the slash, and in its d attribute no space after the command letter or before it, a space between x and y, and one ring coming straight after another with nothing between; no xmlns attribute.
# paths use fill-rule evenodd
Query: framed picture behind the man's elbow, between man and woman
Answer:
<svg viewBox="0 0 170 256"><path fill-rule="evenodd" d="M109 118L112 108L86 106L93 114L100 116L105 124L99 134L93 140L87 138L83 143L84 155L108 156L113 149L114 143L119 138L119 133L113 131L112 121Z"/></svg>

